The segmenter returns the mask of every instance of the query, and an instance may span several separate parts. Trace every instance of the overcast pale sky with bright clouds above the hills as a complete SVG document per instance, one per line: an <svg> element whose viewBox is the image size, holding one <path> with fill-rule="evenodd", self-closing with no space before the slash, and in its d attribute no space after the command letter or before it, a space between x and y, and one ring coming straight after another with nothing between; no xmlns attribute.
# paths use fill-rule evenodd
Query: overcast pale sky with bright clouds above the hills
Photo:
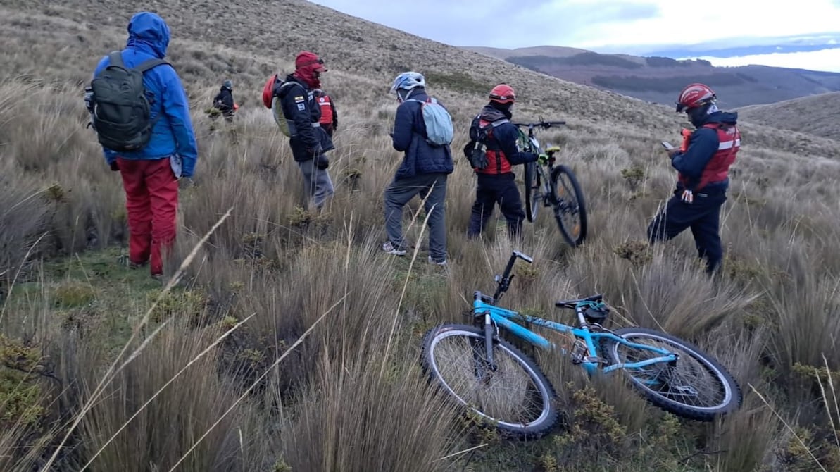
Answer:
<svg viewBox="0 0 840 472"><path fill-rule="evenodd" d="M638 53L656 50L658 45L689 45L730 38L739 38L738 44L744 45L749 42L744 39L749 37L840 30L840 0L796 0L779 3L778 7L766 0L719 3L675 0L312 1L456 46L558 45L601 52ZM726 41L723 44L726 45ZM809 56L798 57L802 60ZM825 59L817 55L814 62ZM840 67L840 50L829 59Z"/></svg>

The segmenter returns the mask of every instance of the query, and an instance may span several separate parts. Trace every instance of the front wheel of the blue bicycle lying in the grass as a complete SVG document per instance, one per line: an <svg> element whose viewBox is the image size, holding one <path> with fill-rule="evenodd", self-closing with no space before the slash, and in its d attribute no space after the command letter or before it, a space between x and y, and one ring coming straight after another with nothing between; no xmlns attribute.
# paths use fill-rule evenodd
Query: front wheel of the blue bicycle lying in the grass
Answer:
<svg viewBox="0 0 840 472"><path fill-rule="evenodd" d="M423 338L423 369L461 406L502 432L541 438L558 420L554 388L533 360L493 338L486 359L484 331L460 324L432 328Z"/></svg>

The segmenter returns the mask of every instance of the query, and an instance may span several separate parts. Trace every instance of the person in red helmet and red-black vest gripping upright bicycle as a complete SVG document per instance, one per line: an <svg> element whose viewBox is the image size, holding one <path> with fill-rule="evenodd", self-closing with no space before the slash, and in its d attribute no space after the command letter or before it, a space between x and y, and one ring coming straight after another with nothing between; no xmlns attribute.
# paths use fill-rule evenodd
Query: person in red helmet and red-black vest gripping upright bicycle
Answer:
<svg viewBox="0 0 840 472"><path fill-rule="evenodd" d="M522 199L514 179L513 165L538 160L540 156L517 149L519 130L511 123L516 93L513 87L499 84L490 91L490 102L470 123L470 142L464 154L477 176L475 203L470 215L467 237L477 238L486 228L496 203L507 219L507 232L512 239L522 235Z"/></svg>

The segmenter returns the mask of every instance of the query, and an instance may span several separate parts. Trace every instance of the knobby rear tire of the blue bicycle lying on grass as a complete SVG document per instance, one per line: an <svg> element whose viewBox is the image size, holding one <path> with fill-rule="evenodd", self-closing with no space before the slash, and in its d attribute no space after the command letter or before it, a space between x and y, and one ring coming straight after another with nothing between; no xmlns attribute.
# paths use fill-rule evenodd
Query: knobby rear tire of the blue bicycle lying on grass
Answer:
<svg viewBox="0 0 840 472"><path fill-rule="evenodd" d="M699 421L712 421L719 415L737 410L741 406L743 395L738 382L732 378L732 374L730 374L726 368L717 362L717 359L698 348L695 344L691 344L688 341L670 334L648 328L620 328L617 329L615 333L626 338L633 338L635 335L635 337L638 338L652 338L672 344L702 364L706 370L715 377L715 380L720 383L718 393L722 393L723 395L722 403L717 406L701 407L689 405L681 401L675 401L668 396L664 396L659 391L650 388L648 385L645 385L643 381L634 377L630 370L624 370L624 372L630 376L633 387L637 391L641 392L642 395L655 406L659 406L665 411L672 412L677 416ZM628 340L633 341L633 339ZM605 341L605 343L606 346L604 347L606 348L605 350L609 361L613 364L620 363L621 360L618 357L618 346L620 344L615 341ZM677 360L678 363L680 361L685 362L685 360Z"/></svg>

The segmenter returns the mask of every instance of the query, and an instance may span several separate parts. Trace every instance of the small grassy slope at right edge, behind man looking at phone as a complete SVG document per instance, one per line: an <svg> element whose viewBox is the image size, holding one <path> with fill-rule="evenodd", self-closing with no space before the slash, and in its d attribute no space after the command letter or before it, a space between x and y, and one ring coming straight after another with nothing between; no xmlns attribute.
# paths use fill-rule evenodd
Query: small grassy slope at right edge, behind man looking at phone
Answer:
<svg viewBox="0 0 840 472"><path fill-rule="evenodd" d="M840 92L831 92L738 108L738 115L750 123L840 139L840 126L835 118L837 107L840 107Z"/></svg>

